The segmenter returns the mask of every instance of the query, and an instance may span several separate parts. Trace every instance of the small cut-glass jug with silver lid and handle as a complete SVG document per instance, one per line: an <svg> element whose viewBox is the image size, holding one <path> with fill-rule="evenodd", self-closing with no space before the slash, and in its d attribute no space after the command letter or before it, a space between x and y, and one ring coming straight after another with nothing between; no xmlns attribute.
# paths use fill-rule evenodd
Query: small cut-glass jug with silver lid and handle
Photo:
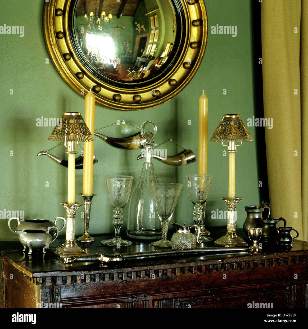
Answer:
<svg viewBox="0 0 308 329"><path fill-rule="evenodd" d="M198 225L186 226L185 223L184 226L178 223L172 223L171 225L174 225L177 228L170 240L172 249L193 249L196 247L197 242L201 242L199 241L200 227ZM197 229L197 239L195 238L195 235L190 232L191 227Z"/></svg>

